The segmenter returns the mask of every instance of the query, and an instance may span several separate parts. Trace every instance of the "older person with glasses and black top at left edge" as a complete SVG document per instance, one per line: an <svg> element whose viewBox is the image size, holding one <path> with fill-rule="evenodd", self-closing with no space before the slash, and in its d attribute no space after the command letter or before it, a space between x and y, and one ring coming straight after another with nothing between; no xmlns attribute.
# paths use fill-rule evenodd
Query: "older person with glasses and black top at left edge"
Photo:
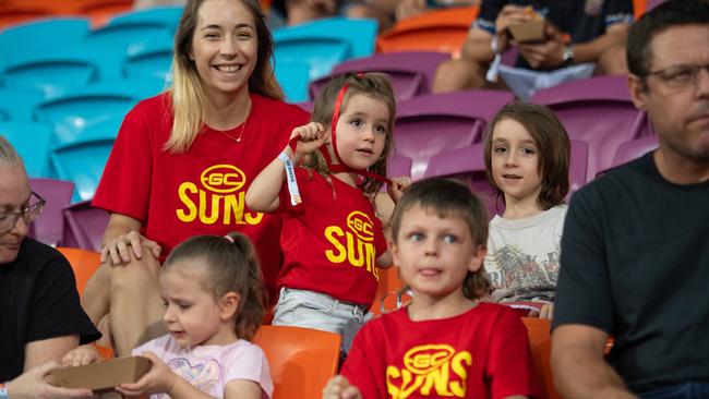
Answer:
<svg viewBox="0 0 709 399"><path fill-rule="evenodd" d="M25 237L44 205L29 190L22 159L0 136L0 399L92 394L45 379L64 353L100 334L79 303L67 259Z"/></svg>

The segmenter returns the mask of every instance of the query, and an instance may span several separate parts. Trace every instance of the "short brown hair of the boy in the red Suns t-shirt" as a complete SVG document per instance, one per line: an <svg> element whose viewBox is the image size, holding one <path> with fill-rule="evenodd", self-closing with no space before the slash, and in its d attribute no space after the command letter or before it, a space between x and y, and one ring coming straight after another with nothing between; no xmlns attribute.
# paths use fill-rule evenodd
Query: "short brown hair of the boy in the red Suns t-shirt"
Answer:
<svg viewBox="0 0 709 399"><path fill-rule="evenodd" d="M470 190L448 179L426 179L411 184L396 204L392 216L392 239L399 238L401 219L407 210L420 206L435 213L440 218L462 219L470 229L472 244L478 247L488 244L488 213L480 200ZM478 271L468 271L462 282L462 293L474 300L490 293L490 280L481 267Z"/></svg>

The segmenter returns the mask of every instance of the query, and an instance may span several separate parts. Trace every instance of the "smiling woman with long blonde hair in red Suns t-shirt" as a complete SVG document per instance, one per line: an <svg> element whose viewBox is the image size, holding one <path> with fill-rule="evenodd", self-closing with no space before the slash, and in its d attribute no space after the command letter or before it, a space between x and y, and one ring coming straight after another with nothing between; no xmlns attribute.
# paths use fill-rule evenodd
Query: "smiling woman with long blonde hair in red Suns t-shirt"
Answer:
<svg viewBox="0 0 709 399"><path fill-rule="evenodd" d="M244 195L309 114L281 101L272 53L257 1L190 0L172 87L127 114L94 197L111 216L83 298L94 323L110 309L119 354L163 332L158 269L189 237L247 234L275 292L278 220L251 211Z"/></svg>

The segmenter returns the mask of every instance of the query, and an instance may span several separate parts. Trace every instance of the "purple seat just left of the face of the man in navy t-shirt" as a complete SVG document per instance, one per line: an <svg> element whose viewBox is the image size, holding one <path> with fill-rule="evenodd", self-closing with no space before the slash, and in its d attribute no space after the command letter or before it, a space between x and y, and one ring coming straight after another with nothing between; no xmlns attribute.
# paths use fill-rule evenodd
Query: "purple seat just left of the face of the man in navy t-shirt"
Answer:
<svg viewBox="0 0 709 399"><path fill-rule="evenodd" d="M647 114L630 101L625 76L568 82L537 92L531 101L550 107L572 138L588 143L588 181L611 166L622 143L652 134Z"/></svg>

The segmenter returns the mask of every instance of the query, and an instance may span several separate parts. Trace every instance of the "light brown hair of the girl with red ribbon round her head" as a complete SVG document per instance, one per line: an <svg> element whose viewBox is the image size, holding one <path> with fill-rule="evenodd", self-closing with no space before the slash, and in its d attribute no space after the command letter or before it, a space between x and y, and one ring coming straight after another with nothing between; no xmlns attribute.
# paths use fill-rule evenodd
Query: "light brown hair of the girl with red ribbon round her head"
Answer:
<svg viewBox="0 0 709 399"><path fill-rule="evenodd" d="M347 109L347 104L352 96L362 94L372 98L376 98L386 104L386 108L389 111L389 120L386 124L386 137L384 140L384 150L380 159L374 164L369 170L386 177L386 162L388 159L392 149L394 148L394 121L396 119L396 99L394 97L394 90L389 83L389 78L384 73L369 72L369 73L346 73L344 75L332 78L325 87L320 92L317 98L315 99L315 105L313 109L313 114L311 117L312 122L322 123L325 129L331 129L331 123L333 122L333 112L335 109L335 101L339 95L340 89L345 84L348 84L347 93L343 98L343 104L339 109L338 118ZM302 165L309 168L314 169L319 173L326 176L329 174L327 169L327 162L320 152L314 152L310 156L305 157L302 161ZM382 183L378 180L371 178L364 179L360 189L364 194L369 196L375 195L382 188Z"/></svg>

